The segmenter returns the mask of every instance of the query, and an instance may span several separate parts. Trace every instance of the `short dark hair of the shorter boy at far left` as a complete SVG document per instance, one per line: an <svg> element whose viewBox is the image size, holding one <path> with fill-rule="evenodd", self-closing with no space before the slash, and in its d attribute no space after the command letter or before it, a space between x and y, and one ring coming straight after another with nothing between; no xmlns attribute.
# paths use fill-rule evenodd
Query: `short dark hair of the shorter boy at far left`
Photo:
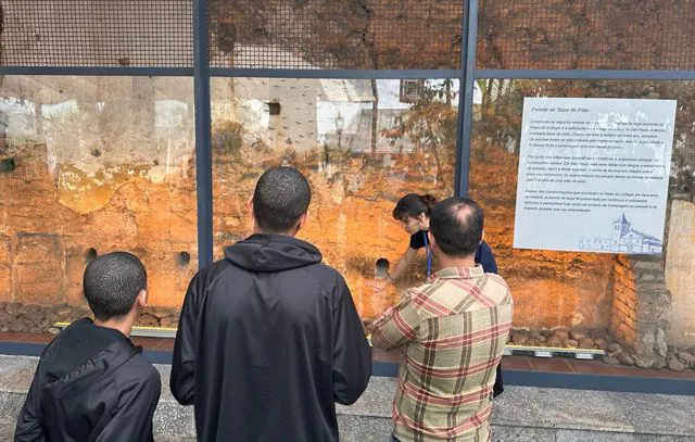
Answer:
<svg viewBox="0 0 695 442"><path fill-rule="evenodd" d="M83 278L85 298L99 320L127 314L147 285L144 266L127 252L112 252L94 258Z"/></svg>

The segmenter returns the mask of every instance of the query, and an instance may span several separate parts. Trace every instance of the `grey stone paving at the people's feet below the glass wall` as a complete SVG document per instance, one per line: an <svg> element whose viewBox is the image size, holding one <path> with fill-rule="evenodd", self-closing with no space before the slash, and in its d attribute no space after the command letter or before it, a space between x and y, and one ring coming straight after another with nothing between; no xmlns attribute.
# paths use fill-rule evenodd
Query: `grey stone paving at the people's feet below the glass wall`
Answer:
<svg viewBox="0 0 695 442"><path fill-rule="evenodd" d="M37 362L0 355L0 442L11 440ZM170 367L155 367L162 376L157 441L192 440L192 408L172 396ZM394 393L393 378L372 377L354 405L338 405L341 440L388 441ZM491 422L493 441L500 442L695 442L694 409L694 396L510 386L495 401Z"/></svg>

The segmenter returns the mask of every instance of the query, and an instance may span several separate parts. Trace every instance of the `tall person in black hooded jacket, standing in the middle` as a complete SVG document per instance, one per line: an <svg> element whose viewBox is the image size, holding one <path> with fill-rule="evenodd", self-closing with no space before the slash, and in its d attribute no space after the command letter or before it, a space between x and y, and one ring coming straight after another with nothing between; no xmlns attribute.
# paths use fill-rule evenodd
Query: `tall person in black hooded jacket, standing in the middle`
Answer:
<svg viewBox="0 0 695 442"><path fill-rule="evenodd" d="M267 171L250 201L254 233L191 280L170 388L194 405L199 441L338 441L336 405L371 375L371 351L343 277L295 239L308 182Z"/></svg>

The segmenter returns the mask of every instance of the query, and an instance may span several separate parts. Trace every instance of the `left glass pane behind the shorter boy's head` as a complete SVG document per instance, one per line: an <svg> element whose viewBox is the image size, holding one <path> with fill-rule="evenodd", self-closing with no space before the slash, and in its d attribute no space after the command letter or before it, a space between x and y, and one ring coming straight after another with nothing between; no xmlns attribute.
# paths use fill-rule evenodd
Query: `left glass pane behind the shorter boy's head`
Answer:
<svg viewBox="0 0 695 442"><path fill-rule="evenodd" d="M119 250L143 261L151 305L180 304L198 268L192 83L2 79L0 301L83 305L86 264Z"/></svg>

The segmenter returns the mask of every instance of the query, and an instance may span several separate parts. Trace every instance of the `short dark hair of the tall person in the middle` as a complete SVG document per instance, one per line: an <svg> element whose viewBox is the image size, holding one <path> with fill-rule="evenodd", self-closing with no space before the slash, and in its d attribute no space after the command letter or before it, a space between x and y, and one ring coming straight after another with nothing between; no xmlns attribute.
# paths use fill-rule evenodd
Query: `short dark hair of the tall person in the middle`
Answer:
<svg viewBox="0 0 695 442"><path fill-rule="evenodd" d="M269 233L285 233L308 210L312 189L299 171L275 167L266 171L253 192L253 216Z"/></svg>

